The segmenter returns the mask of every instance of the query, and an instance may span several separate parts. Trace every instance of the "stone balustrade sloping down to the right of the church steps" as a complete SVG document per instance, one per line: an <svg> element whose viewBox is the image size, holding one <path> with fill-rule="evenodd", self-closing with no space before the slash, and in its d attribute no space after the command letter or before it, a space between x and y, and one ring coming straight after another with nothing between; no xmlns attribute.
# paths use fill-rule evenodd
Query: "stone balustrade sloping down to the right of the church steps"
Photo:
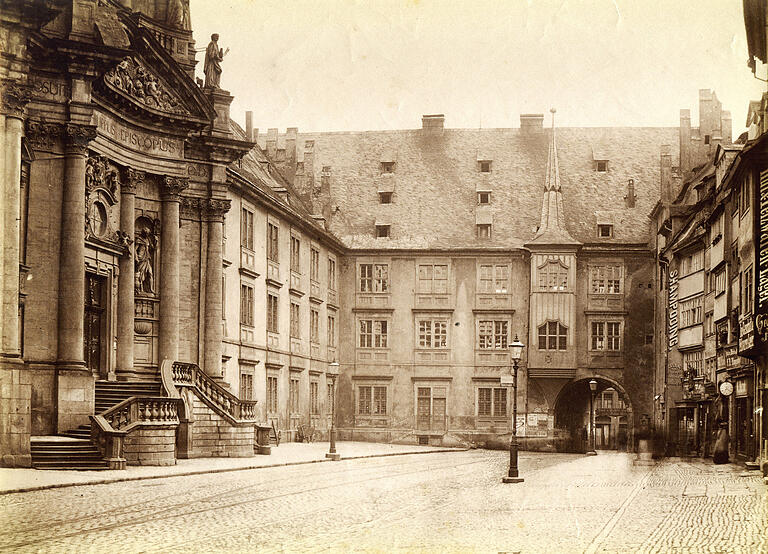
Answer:
<svg viewBox="0 0 768 554"><path fill-rule="evenodd" d="M256 422L256 400L239 399L206 375L196 364L173 362L169 368L167 363L164 363L160 373L169 396L173 396L171 388L194 387L200 397L224 417L235 423ZM167 382L169 380L170 383Z"/></svg>

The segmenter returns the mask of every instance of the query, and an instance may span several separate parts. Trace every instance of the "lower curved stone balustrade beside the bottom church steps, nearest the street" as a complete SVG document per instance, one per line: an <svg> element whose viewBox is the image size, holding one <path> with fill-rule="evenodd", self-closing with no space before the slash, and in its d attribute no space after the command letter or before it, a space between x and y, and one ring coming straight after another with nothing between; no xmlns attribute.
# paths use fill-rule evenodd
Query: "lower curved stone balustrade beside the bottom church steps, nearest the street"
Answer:
<svg viewBox="0 0 768 554"><path fill-rule="evenodd" d="M125 469L125 436L143 425L179 424L179 398L132 396L104 412L91 416L91 439L110 469Z"/></svg>

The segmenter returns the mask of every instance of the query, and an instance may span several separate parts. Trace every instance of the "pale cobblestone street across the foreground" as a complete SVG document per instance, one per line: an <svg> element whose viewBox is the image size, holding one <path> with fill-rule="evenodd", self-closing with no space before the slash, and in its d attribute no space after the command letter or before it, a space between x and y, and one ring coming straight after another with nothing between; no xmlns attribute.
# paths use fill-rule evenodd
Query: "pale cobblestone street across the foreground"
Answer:
<svg viewBox="0 0 768 554"><path fill-rule="evenodd" d="M625 454L349 460L0 497L0 551L768 552L757 472Z"/></svg>

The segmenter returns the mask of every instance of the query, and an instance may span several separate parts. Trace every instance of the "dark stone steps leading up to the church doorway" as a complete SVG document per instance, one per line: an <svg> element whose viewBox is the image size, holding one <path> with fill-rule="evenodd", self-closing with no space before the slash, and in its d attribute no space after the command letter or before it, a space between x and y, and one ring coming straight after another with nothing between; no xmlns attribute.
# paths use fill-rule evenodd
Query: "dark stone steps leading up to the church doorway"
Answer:
<svg viewBox="0 0 768 554"><path fill-rule="evenodd" d="M96 381L95 396L94 411L100 414L131 396L161 396L161 385L154 381ZM32 437L31 453L36 469L108 469L91 441L90 423L53 437Z"/></svg>

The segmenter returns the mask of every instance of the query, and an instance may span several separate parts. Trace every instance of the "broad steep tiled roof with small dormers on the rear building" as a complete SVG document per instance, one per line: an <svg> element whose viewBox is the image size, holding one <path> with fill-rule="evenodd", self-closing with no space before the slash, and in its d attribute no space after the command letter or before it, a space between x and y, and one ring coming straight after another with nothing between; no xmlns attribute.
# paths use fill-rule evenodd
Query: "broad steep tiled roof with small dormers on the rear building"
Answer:
<svg viewBox="0 0 768 554"><path fill-rule="evenodd" d="M315 182L324 166L330 170L329 228L348 247L514 248L530 243L541 223L550 138L550 129L516 128L302 133L297 150L301 156L304 141L314 140ZM582 243L647 242L660 147L677 141L674 127L558 128L566 235ZM394 175L382 176L389 158ZM608 161L607 172L596 171L597 159ZM491 172L481 173L478 160L491 161ZM634 207L625 203L629 179ZM379 203L382 186L393 188L392 204ZM482 216L492 218L491 240L475 238L476 211L485 208L477 190L492 191L490 215ZM391 238L375 238L377 221L391 224ZM612 223L614 238L598 239L598 223Z"/></svg>

